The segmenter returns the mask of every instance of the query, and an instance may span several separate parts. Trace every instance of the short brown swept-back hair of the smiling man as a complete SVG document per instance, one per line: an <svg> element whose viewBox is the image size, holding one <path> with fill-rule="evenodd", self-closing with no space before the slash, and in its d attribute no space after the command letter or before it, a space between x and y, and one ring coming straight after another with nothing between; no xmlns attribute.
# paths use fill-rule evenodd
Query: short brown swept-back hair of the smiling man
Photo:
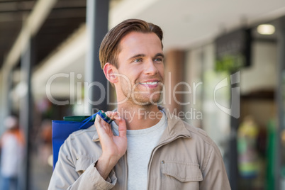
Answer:
<svg viewBox="0 0 285 190"><path fill-rule="evenodd" d="M111 65L118 68L117 57L120 52L118 44L121 39L130 32L155 33L162 43L163 33L159 26L139 19L125 20L112 28L102 40L99 50L99 60L101 62L102 69L106 62L110 62Z"/></svg>

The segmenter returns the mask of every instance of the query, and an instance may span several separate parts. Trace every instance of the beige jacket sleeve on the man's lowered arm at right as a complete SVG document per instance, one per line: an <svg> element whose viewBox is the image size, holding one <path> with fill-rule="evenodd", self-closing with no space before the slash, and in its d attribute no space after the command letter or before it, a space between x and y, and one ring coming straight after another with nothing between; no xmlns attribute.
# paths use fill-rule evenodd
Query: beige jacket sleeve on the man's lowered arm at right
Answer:
<svg viewBox="0 0 285 190"><path fill-rule="evenodd" d="M200 182L200 189L230 189L223 157L216 144L212 144L208 151L205 167L202 168L203 181Z"/></svg>

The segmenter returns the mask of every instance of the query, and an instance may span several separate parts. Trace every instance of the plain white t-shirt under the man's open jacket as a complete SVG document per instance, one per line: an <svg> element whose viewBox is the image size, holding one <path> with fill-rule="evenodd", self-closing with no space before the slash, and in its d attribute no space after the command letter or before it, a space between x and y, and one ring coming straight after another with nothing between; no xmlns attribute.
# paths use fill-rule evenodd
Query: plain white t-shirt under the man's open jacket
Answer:
<svg viewBox="0 0 285 190"><path fill-rule="evenodd" d="M115 122L111 125L115 129L114 133L118 135L118 125ZM161 120L150 128L127 130L128 190L147 189L147 166L150 155L165 128L167 119L163 113Z"/></svg>

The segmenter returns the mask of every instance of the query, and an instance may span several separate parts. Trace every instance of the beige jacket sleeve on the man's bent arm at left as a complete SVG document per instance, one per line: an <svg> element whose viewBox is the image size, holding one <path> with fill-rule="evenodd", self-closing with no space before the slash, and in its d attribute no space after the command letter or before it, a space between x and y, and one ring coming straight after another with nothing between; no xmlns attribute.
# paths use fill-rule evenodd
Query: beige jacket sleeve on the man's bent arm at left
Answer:
<svg viewBox="0 0 285 190"><path fill-rule="evenodd" d="M59 158L50 179L48 190L59 189L112 189L117 178L112 170L107 180L103 179L92 163L83 174L79 175L72 161L69 139L60 147Z"/></svg>

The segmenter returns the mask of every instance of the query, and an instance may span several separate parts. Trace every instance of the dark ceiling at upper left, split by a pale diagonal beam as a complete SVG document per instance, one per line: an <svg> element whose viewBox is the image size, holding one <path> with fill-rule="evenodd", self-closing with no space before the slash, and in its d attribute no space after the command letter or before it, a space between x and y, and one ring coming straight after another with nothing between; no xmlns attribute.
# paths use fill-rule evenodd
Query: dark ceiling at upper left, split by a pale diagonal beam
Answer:
<svg viewBox="0 0 285 190"><path fill-rule="evenodd" d="M0 0L0 67L35 0ZM42 61L86 20L85 0L58 0L35 35L35 63Z"/></svg>

